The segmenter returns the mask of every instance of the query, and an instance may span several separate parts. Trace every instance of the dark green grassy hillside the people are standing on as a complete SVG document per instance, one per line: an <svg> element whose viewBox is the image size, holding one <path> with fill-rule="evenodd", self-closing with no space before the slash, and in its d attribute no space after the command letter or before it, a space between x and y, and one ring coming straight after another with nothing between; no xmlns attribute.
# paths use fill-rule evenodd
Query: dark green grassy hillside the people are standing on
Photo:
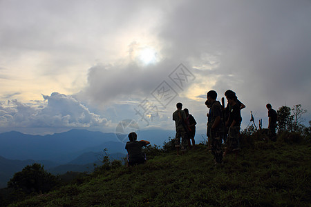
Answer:
<svg viewBox="0 0 311 207"><path fill-rule="evenodd" d="M310 206L311 146L258 141L215 166L198 146L121 166L10 206Z"/></svg>

